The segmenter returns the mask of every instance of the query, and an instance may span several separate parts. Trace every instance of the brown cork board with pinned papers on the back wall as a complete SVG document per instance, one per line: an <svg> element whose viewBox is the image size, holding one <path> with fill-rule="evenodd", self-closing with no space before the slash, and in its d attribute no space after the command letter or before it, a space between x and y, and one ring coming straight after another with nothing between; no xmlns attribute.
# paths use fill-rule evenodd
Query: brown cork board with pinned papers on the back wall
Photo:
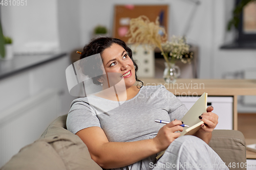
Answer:
<svg viewBox="0 0 256 170"><path fill-rule="evenodd" d="M129 30L130 19L145 15L150 21L155 22L159 16L160 26L168 30L168 5L116 5L114 14L113 37L127 42L125 37ZM168 33L167 33L168 34Z"/></svg>

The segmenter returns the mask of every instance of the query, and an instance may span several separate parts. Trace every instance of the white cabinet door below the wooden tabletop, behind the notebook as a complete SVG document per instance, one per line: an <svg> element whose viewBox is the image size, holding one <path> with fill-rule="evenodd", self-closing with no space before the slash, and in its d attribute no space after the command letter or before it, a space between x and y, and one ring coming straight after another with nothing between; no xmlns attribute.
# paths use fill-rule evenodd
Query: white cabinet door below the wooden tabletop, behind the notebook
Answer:
<svg viewBox="0 0 256 170"><path fill-rule="evenodd" d="M177 98L190 109L199 99L192 96L177 96ZM233 97L231 96L208 96L207 105L214 107L214 113L219 116L219 123L215 129L233 129Z"/></svg>

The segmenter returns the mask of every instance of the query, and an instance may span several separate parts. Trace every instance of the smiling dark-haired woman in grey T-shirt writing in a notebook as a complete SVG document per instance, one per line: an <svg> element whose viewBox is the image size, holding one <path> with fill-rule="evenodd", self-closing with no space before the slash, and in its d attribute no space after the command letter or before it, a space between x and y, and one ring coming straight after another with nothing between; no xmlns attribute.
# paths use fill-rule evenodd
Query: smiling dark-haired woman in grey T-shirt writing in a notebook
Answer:
<svg viewBox="0 0 256 170"><path fill-rule="evenodd" d="M100 60L96 54L100 54ZM97 60L94 64L84 60L92 55ZM138 67L131 49L123 41L95 39L84 46L80 59L83 74L102 86L102 91L72 102L67 128L82 139L91 158L102 168L214 169L210 168L211 164L218 164L216 169L228 169L207 144L218 124L212 107L202 113L205 125L195 136L178 138L180 133L175 132L183 131L179 119L187 109L163 85L143 86L142 83L138 87ZM116 85L110 85L111 79L118 80ZM116 87L114 93L112 87ZM155 119L170 123L158 124ZM157 154L165 149L164 155L156 160Z"/></svg>

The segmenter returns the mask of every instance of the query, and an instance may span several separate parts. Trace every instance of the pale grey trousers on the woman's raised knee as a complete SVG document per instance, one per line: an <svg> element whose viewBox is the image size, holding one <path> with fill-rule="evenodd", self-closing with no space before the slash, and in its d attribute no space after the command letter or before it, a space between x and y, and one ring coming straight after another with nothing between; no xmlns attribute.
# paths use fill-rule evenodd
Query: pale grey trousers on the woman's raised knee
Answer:
<svg viewBox="0 0 256 170"><path fill-rule="evenodd" d="M228 169L208 144L200 138L190 135L175 139L153 166L153 170Z"/></svg>

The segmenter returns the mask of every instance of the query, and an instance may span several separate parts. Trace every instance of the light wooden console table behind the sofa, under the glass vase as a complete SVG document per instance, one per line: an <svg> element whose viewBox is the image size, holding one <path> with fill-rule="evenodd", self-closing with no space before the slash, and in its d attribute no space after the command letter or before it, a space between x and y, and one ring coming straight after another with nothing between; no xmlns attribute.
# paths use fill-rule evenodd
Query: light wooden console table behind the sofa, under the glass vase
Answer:
<svg viewBox="0 0 256 170"><path fill-rule="evenodd" d="M143 78L144 85L163 84L166 89L175 95L202 95L233 96L233 129L238 130L238 95L256 95L256 80L242 79L178 79L174 84L167 84L164 79ZM246 140L247 141L247 140ZM256 143L249 140L248 144ZM256 159L256 153L247 151L247 158Z"/></svg>

